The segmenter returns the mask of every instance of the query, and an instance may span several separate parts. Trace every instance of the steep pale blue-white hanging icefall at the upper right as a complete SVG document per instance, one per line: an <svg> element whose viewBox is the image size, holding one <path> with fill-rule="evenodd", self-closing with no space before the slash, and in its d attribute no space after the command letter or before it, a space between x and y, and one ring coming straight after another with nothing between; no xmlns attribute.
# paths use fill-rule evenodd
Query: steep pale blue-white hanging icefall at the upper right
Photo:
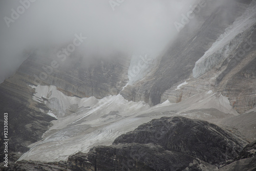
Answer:
<svg viewBox="0 0 256 171"><path fill-rule="evenodd" d="M256 23L256 1L252 1L242 16L229 26L225 33L212 44L210 49L196 62L193 76L197 78L223 62L236 49L246 35L241 34Z"/></svg>

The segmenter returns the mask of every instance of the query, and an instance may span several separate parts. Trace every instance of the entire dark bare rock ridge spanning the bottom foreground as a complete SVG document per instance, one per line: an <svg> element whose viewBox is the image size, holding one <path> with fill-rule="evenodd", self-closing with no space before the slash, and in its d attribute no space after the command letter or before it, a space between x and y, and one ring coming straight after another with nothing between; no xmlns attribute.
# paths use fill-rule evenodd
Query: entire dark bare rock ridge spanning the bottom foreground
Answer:
<svg viewBox="0 0 256 171"><path fill-rule="evenodd" d="M11 169L227 170L234 162L247 160L232 170L252 170L255 143L243 148L245 141L203 120L162 117L121 135L111 146L70 156L68 162L19 161Z"/></svg>

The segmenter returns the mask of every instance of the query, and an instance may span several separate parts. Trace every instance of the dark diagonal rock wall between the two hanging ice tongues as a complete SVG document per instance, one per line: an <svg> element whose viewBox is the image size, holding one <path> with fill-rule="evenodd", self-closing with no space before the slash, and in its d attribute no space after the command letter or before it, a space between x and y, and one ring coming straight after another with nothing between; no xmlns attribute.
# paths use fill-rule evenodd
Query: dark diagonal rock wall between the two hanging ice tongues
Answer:
<svg viewBox="0 0 256 171"><path fill-rule="evenodd" d="M179 102L199 92L197 87L204 86L205 81L200 78L192 89L189 88L183 91L184 93L179 91L171 93L170 91L175 90L178 84L191 77L196 61L216 42L225 29L243 14L250 1L236 1L233 6L227 5L215 9L211 8L215 6L211 3L216 2L207 3L209 4L201 9L198 18L194 18L198 20L196 25L193 24L193 21L187 24L181 30L176 41L160 56L160 63L154 73L147 75L142 81L138 81L132 86L127 86L121 95L128 100L144 100L151 105L156 105L166 99ZM232 14L227 14L228 8L232 8L230 10ZM229 17L223 17L227 15ZM207 87L211 87L211 81L209 82ZM166 91L169 92L167 96L165 95Z"/></svg>

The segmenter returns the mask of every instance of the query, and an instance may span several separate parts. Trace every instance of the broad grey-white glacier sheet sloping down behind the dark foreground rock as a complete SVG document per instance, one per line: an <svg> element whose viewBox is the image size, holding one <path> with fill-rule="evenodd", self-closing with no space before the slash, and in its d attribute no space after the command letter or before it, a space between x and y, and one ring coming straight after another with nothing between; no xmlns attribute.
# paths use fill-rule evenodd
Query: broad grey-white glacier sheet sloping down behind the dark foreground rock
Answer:
<svg viewBox="0 0 256 171"><path fill-rule="evenodd" d="M35 89L38 92L45 91L45 93L48 93L48 90L55 90L41 86ZM58 92L55 93L58 94ZM64 97L63 100L69 98ZM227 97L217 93L195 95L175 104L166 100L152 107L143 101L127 101L121 95L96 100L98 101L94 103L95 100L90 100L90 98L77 99L80 106L78 112L52 121L53 126L42 136L44 139L31 144L30 151L19 160L47 162L67 160L68 156L77 152L86 153L93 146L111 145L114 139L121 134L133 131L142 123L162 116L181 115L200 119L201 116L198 115L182 114L189 110L215 108L224 113L238 115L232 109ZM214 118L210 115L205 117Z"/></svg>

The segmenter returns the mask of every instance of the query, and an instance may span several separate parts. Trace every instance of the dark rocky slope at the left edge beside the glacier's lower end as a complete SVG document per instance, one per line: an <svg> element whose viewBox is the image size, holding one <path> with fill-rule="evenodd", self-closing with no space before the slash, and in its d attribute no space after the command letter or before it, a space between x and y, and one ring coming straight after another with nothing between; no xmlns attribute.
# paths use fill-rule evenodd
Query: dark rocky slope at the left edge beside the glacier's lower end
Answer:
<svg viewBox="0 0 256 171"><path fill-rule="evenodd" d="M28 87L27 81L29 79L26 75L17 72L0 85L0 112L8 113L9 154L12 156L9 159L14 161L29 150L29 144L41 139L41 135L49 129L50 121L54 120L39 110L49 110L44 103L32 100L33 91ZM3 123L4 120L1 120L1 125ZM3 144L5 138L2 129L3 126L0 137ZM1 145L1 161L3 148ZM16 153L11 155L11 152Z"/></svg>

